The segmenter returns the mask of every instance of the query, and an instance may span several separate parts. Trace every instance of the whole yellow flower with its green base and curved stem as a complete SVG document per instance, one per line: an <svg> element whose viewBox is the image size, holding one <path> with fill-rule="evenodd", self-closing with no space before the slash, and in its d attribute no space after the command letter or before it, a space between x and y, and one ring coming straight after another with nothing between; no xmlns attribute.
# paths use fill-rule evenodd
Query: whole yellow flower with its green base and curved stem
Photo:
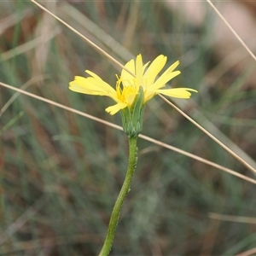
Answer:
<svg viewBox="0 0 256 256"><path fill-rule="evenodd" d="M166 56L159 55L151 65L149 62L143 64L143 56L137 55L136 60L128 61L120 76L117 76L115 89L90 70L85 70L89 77L76 76L69 83L70 90L112 98L115 104L106 108L106 111L110 114L118 112L121 114L123 128L129 139L129 161L125 181L114 204L100 256L108 256L111 251L121 207L130 191L131 178L137 165L137 137L143 130L143 112L146 103L159 94L188 99L191 96L190 91L197 92L190 88L164 88L166 83L180 74L180 71L175 70L179 64L179 61L176 61L159 75L166 61Z"/></svg>

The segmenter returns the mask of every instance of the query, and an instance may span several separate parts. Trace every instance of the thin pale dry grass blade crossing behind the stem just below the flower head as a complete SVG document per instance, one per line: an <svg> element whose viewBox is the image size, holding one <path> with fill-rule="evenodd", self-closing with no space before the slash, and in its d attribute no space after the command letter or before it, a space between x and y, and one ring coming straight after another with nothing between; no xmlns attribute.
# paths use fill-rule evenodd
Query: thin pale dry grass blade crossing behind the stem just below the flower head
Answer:
<svg viewBox="0 0 256 256"><path fill-rule="evenodd" d="M24 94L26 96L31 96L33 98L36 98L39 101L46 102L48 104L54 105L54 106L56 106L58 108L63 108L65 110L67 110L67 111L70 111L70 112L73 112L73 113L77 113L77 114L82 115L82 116L84 116L84 117L86 117L88 119L92 119L92 120L95 120L96 122L102 123L103 125L111 126L111 127L115 128L115 129L118 129L120 131L123 130L123 128L121 126L119 126L119 125L114 125L114 124L112 124L112 123L110 123L108 121L105 121L103 119L96 118L96 117L94 117L94 116L92 116L92 115L90 115L88 113L84 113L84 112L81 112L81 111L73 109L73 108L68 108L67 106L64 106L64 105L62 105L60 103L50 101L50 100L45 99L44 97L41 97L41 96L36 96L36 95L34 95L34 94L30 93L30 92L27 92L25 90L20 90L18 88L15 88L15 87L13 87L13 86L11 86L9 84L3 84L2 82L0 82L0 85L2 85L3 87L9 88L10 90L16 90L17 92L20 92L21 94ZM230 170L229 168L225 168L224 166L219 166L218 164L215 164L215 163L213 163L213 162L211 162L209 160L205 160L205 159L201 158L200 156L197 156L195 154L190 154L190 153L185 152L185 151L183 151L183 150L181 150L179 148L172 147L172 146L170 146L170 145L168 145L166 143L161 143L161 142L159 142L157 140L154 140L151 137L147 137L147 136L142 135L142 134L139 135L139 137L143 138L144 140L147 140L148 142L157 144L157 145L159 145L161 147L164 147L164 148L172 149L173 151L175 151L175 152L177 152L179 154L184 154L184 155L186 155L186 156L188 156L188 157L190 157L192 159L201 161L202 163L207 164L208 166L213 166L215 168L218 168L219 170L222 170L224 172L228 172L231 175L234 175L236 177L240 177L241 179L244 179L247 182L256 184L256 180L254 180L253 178L250 178L250 177L244 176L244 175L242 175L240 173L234 172L233 170Z"/></svg>

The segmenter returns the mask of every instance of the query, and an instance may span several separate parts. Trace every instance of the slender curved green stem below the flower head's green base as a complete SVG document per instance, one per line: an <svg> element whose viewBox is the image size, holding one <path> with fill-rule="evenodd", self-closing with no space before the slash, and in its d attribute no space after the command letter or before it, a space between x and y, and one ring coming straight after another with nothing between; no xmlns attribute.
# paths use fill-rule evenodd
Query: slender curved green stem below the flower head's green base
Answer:
<svg viewBox="0 0 256 256"><path fill-rule="evenodd" d="M119 192L119 196L115 201L113 212L111 214L111 218L108 224L108 233L105 238L105 241L99 256L108 256L108 253L110 253L110 250L113 244L114 233L119 222L121 207L125 200L125 196L130 191L131 178L135 171L136 164L137 164L137 137L130 137L129 138L129 162L128 162L128 168L125 176L125 181L123 183L122 189Z"/></svg>

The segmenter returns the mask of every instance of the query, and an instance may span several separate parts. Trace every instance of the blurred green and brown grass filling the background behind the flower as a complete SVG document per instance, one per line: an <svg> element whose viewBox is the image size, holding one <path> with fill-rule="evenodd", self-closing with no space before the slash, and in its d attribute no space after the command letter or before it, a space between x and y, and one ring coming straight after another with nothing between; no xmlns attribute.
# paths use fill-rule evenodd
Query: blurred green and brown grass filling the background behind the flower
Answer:
<svg viewBox="0 0 256 256"><path fill-rule="evenodd" d="M233 148L225 137L255 159L256 84L248 79L255 66L250 59L238 73L231 67L239 59L220 65L212 34L218 17L207 3L201 26L164 2L44 6L122 63L139 53L144 62L160 54L168 65L180 60L182 74L171 85L199 93L177 104L227 146ZM85 69L114 85L119 69L34 4L0 7L1 82L120 124L119 114L104 111L110 99L67 89ZM0 88L0 254L96 255L125 177L125 134L28 96L16 95L5 108L14 95ZM158 97L148 103L143 134L253 177ZM235 255L255 247L255 223L208 217L255 217L253 184L143 139L138 148L111 255Z"/></svg>

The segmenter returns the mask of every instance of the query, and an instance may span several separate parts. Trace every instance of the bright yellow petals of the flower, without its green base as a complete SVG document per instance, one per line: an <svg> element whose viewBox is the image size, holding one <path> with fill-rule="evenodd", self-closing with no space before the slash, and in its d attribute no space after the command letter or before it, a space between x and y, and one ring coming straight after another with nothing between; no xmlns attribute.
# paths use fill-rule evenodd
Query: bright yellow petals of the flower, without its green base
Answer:
<svg viewBox="0 0 256 256"><path fill-rule="evenodd" d="M149 62L143 65L142 55L137 55L136 63L134 60L131 60L125 64L125 67L131 73L134 73L135 77L123 69L121 76L117 80L116 90L89 70L85 72L90 74L90 77L76 76L74 81L70 82L69 89L89 95L111 97L116 104L106 108L106 111L110 114L117 113L126 107L132 108L139 94L140 87L143 88L143 105L157 94L186 99L191 96L189 90L197 92L189 88L162 89L168 81L180 73L180 71L174 71L179 64L179 61L176 61L157 79L157 75L166 65L166 60L166 56L159 55L148 67Z"/></svg>

